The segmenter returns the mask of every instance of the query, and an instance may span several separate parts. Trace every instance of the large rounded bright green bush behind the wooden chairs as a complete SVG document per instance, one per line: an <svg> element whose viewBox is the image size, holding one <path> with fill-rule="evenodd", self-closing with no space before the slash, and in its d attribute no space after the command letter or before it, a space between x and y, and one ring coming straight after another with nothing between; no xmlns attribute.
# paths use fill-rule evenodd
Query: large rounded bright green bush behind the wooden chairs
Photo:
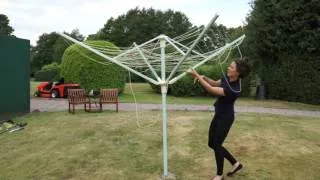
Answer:
<svg viewBox="0 0 320 180"><path fill-rule="evenodd" d="M106 41L86 41L86 43L119 50L115 45ZM101 65L94 61L107 63L107 65ZM61 76L65 78L66 82L79 83L88 91L100 88L118 88L122 92L126 74L126 71L118 65L110 63L79 45L70 46L63 54Z"/></svg>

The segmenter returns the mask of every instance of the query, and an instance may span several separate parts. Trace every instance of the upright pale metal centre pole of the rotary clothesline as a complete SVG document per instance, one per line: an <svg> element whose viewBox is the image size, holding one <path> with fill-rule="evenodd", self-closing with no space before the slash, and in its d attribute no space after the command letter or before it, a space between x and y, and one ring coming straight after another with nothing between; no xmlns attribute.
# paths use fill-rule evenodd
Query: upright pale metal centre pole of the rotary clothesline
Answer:
<svg viewBox="0 0 320 180"><path fill-rule="evenodd" d="M165 38L160 39L161 48L161 94L162 94L162 131L163 131L163 178L168 176L168 123L167 123L167 90L166 80L166 64L165 64Z"/></svg>

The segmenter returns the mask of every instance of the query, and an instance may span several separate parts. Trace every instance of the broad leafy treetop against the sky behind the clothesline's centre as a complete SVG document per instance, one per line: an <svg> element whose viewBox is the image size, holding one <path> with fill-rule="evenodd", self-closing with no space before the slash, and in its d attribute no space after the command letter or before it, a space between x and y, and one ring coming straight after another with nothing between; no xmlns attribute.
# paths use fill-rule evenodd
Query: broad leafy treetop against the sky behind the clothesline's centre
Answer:
<svg viewBox="0 0 320 180"><path fill-rule="evenodd" d="M160 34L175 37L192 26L188 17L172 10L131 9L116 19L110 18L102 29L88 39L102 39L117 46L130 46L154 38Z"/></svg>

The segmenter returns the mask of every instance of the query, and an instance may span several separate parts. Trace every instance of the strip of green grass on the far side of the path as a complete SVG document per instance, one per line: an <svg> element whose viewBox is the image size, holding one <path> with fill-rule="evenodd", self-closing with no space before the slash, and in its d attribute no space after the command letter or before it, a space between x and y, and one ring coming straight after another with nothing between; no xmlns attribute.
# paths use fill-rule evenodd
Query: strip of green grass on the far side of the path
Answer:
<svg viewBox="0 0 320 180"><path fill-rule="evenodd" d="M38 82L31 82L30 93L33 95ZM156 94L147 83L133 83L133 92L136 95L137 103L161 103L161 95ZM129 84L126 84L125 91L120 96L121 102L134 103ZM211 105L214 102L214 98L211 97L175 97L168 96L168 103L170 104L200 104ZM252 98L240 98L237 101L237 105L240 106L256 106L267 108L282 108L282 109L299 109L299 110L320 110L320 105L310 105L303 103L279 101L279 100L263 100L256 101Z"/></svg>

